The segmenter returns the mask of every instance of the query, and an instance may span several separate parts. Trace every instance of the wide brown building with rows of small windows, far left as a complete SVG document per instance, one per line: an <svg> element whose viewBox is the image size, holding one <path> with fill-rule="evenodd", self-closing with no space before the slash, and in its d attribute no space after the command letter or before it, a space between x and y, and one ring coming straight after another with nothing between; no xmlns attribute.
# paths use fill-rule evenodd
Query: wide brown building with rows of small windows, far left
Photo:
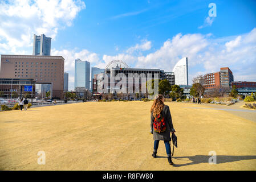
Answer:
<svg viewBox="0 0 256 182"><path fill-rule="evenodd" d="M62 56L1 55L0 77L32 78L35 84L50 84L51 96L62 99L64 58Z"/></svg>

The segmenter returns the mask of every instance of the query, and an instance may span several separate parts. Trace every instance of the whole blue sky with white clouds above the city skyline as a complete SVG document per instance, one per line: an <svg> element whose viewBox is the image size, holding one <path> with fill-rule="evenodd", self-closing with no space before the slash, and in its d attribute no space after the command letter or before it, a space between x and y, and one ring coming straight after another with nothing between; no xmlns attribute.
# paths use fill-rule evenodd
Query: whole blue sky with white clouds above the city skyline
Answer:
<svg viewBox="0 0 256 182"><path fill-rule="evenodd" d="M209 17L209 3L217 16ZM114 59L131 67L172 71L188 57L194 76L230 67L235 80L256 81L256 1L1 1L0 53L32 54L32 35L52 38L51 55L104 68Z"/></svg>

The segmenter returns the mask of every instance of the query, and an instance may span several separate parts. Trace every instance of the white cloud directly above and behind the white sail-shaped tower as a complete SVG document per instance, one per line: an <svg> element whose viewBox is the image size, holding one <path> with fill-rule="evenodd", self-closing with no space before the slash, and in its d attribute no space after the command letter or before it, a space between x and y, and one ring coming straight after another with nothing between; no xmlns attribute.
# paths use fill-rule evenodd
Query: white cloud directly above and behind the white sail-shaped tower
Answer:
<svg viewBox="0 0 256 182"><path fill-rule="evenodd" d="M136 67L160 68L172 71L174 64L182 57L189 57L190 64L196 64L200 52L208 45L200 34L177 34L164 42L163 46L146 56L139 56Z"/></svg>

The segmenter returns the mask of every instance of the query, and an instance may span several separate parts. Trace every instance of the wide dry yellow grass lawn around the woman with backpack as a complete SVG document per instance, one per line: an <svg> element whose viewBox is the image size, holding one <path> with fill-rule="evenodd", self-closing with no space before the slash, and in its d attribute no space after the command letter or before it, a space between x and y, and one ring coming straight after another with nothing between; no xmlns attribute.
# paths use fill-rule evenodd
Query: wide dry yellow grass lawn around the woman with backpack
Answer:
<svg viewBox="0 0 256 182"><path fill-rule="evenodd" d="M169 105L178 137L173 162L153 159L152 102L85 102L0 113L1 170L255 170L256 123L221 110ZM206 107L197 105L197 107ZM245 113L246 114L246 113ZM39 165L38 151L46 153ZM210 151L217 164L210 165Z"/></svg>

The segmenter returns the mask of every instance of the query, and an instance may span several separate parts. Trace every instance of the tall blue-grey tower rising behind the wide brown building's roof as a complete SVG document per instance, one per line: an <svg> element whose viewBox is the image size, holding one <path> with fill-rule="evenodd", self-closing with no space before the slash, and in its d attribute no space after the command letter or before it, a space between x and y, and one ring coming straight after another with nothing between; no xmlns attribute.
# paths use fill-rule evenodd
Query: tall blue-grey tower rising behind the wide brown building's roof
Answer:
<svg viewBox="0 0 256 182"><path fill-rule="evenodd" d="M50 56L51 55L51 38L44 34L34 35L33 55Z"/></svg>

